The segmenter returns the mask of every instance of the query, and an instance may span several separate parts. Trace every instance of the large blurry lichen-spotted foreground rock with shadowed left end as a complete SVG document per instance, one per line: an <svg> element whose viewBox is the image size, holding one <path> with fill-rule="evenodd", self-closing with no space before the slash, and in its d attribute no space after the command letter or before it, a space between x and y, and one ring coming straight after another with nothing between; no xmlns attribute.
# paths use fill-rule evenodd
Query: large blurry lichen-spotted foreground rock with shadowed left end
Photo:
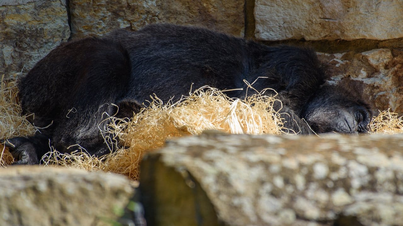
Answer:
<svg viewBox="0 0 403 226"><path fill-rule="evenodd" d="M402 148L402 135L210 132L147 156L140 188L153 225L400 226Z"/></svg>

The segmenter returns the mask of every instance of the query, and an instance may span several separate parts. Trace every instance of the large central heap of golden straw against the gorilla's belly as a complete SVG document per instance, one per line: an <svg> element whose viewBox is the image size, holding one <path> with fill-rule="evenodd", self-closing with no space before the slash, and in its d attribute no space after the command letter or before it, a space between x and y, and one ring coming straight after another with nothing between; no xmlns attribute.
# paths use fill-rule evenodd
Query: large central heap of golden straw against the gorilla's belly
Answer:
<svg viewBox="0 0 403 226"><path fill-rule="evenodd" d="M247 99L229 99L215 88L204 87L177 103L162 103L152 97L148 107L133 119L113 118L110 128L102 131L108 143L116 147L111 154L91 158L78 150L74 154L56 151L45 156L50 165L102 170L139 178L139 161L146 151L162 147L167 139L201 134L216 129L230 134L282 134L280 115L273 110L273 97L253 95ZM269 107L268 107L269 106Z"/></svg>

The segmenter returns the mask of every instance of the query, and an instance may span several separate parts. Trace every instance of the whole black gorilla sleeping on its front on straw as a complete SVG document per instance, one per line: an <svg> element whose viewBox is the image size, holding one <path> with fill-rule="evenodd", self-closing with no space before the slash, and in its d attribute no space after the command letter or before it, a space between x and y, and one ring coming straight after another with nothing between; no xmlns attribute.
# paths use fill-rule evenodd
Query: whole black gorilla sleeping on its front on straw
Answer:
<svg viewBox="0 0 403 226"><path fill-rule="evenodd" d="M117 30L102 38L64 43L21 78L23 113L44 127L35 136L2 140L18 159L35 164L49 151L80 144L89 154L109 152L99 127L102 114L133 116L150 95L164 102L193 87L209 85L229 97L244 98L247 85L276 90L285 127L300 134L367 131L370 110L340 86L324 84L314 51L290 46L269 47L196 27L150 25L139 31ZM274 92L273 92L274 93ZM248 95L250 93L250 89ZM102 107L100 107L102 106ZM281 109L280 109L281 108ZM305 120L303 120L305 119Z"/></svg>

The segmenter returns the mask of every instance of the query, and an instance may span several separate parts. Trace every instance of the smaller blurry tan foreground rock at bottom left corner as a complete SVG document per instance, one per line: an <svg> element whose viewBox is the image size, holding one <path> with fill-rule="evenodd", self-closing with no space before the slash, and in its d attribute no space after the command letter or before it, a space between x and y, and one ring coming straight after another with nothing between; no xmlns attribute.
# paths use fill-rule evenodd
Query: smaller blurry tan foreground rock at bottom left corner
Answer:
<svg viewBox="0 0 403 226"><path fill-rule="evenodd" d="M73 168L2 168L0 181L4 226L111 225L134 192L121 175Z"/></svg>

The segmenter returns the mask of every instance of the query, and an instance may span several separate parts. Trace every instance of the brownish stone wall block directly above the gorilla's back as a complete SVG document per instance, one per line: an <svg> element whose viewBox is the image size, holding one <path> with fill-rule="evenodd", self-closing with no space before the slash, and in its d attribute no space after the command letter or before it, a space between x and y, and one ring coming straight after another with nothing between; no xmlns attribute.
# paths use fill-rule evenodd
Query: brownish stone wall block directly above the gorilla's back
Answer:
<svg viewBox="0 0 403 226"><path fill-rule="evenodd" d="M73 38L102 35L116 28L137 30L150 23L202 25L244 34L243 0L70 0Z"/></svg>

